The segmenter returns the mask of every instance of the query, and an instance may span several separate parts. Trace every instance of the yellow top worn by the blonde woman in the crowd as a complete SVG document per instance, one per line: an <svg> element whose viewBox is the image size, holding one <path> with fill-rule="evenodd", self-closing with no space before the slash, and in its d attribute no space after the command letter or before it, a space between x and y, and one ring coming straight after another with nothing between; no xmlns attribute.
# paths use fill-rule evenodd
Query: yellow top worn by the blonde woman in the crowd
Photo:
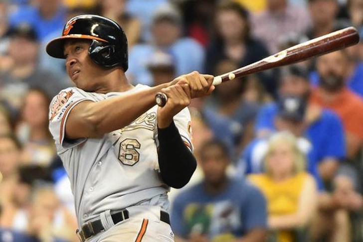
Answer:
<svg viewBox="0 0 363 242"><path fill-rule="evenodd" d="M266 174L252 174L248 178L265 195L268 215L279 216L297 212L300 193L308 177L308 173L301 172L279 183ZM291 231L279 231L277 237L279 242L294 242Z"/></svg>

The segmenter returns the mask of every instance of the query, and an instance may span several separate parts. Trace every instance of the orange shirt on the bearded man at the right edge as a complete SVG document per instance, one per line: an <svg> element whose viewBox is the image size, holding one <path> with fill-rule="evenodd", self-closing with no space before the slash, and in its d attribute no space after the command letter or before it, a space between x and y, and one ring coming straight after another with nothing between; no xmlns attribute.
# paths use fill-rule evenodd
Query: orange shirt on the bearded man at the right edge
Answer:
<svg viewBox="0 0 363 242"><path fill-rule="evenodd" d="M363 139L363 99L357 94L346 88L334 100L325 101L322 90L316 88L310 102L335 112L342 119L346 132Z"/></svg>

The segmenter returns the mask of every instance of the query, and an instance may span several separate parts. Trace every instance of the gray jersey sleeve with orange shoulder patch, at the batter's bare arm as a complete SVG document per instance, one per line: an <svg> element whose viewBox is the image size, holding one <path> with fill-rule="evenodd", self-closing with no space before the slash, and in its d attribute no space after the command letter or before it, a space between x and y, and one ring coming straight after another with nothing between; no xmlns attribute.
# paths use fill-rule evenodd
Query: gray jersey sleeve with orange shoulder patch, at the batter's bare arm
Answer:
<svg viewBox="0 0 363 242"><path fill-rule="evenodd" d="M53 98L49 106L49 130L55 140L57 147L63 149L71 148L85 140L77 139L72 141L65 141L65 124L70 111L79 103L92 100L86 94L82 93L77 88L67 88L58 93Z"/></svg>

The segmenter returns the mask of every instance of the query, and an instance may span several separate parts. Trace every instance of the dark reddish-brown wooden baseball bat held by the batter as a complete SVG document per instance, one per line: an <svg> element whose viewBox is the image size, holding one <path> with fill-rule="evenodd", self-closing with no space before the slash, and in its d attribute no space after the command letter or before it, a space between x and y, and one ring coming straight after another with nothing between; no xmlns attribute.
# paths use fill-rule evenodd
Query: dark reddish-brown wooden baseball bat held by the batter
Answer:
<svg viewBox="0 0 363 242"><path fill-rule="evenodd" d="M347 48L358 42L359 33L357 29L355 27L347 27L294 45L247 66L216 76L213 79L213 85L219 85L223 82L247 76L252 73L304 61L309 58ZM163 107L167 103L168 97L164 93L158 93L155 97L155 101L159 106Z"/></svg>

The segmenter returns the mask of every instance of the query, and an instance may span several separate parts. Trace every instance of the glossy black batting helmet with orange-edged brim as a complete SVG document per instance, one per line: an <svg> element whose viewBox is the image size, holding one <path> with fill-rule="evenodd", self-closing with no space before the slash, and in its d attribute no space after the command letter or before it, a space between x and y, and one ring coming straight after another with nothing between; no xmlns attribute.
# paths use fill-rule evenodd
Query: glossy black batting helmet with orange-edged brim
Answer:
<svg viewBox="0 0 363 242"><path fill-rule="evenodd" d="M129 67L128 46L124 30L115 21L91 14L75 16L64 25L62 36L51 40L46 52L55 58L65 59L64 43L67 39L91 39L88 49L91 59L104 67Z"/></svg>

